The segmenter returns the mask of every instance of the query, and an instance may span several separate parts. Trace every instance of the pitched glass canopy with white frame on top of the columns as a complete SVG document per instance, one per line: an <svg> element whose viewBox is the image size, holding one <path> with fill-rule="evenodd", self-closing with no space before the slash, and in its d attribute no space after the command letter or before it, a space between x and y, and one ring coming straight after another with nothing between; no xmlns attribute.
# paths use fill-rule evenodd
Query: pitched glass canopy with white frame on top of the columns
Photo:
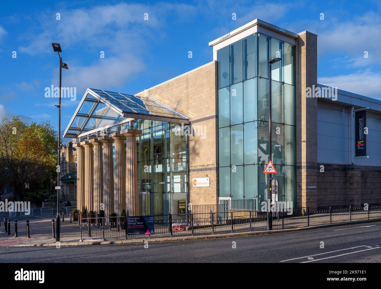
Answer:
<svg viewBox="0 0 381 289"><path fill-rule="evenodd" d="M189 123L188 117L150 97L88 88L64 137L83 137L134 119Z"/></svg>

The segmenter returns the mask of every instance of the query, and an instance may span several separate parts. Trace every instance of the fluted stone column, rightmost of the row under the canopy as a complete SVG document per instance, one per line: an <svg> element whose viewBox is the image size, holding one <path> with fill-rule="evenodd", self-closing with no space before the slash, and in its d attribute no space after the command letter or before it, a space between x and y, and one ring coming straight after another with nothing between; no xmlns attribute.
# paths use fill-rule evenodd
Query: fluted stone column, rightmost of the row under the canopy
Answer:
<svg viewBox="0 0 381 289"><path fill-rule="evenodd" d="M125 129L120 132L126 137L126 212L128 216L139 215L138 192L138 147L136 137L142 131Z"/></svg>

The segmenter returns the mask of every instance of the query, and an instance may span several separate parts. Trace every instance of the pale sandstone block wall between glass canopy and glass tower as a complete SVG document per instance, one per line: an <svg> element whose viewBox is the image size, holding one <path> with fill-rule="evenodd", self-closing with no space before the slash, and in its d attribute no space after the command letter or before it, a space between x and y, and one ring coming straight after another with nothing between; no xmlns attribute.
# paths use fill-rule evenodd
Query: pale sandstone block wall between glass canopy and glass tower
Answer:
<svg viewBox="0 0 381 289"><path fill-rule="evenodd" d="M215 204L218 200L217 62L142 91L190 118L205 135L189 137L189 200L192 204ZM206 129L206 131L205 131ZM210 177L210 187L193 187L192 179Z"/></svg>

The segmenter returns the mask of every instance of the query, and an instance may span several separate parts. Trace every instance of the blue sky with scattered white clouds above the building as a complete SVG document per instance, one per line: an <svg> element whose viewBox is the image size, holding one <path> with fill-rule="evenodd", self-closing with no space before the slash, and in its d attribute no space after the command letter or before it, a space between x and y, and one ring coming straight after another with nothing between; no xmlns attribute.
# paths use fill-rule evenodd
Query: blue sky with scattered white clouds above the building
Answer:
<svg viewBox="0 0 381 289"><path fill-rule="evenodd" d="M2 1L1 11L0 118L57 126L58 100L45 97L58 86L52 42L69 65L62 86L77 88L77 101L62 99L63 131L87 87L133 94L154 86L210 62L208 42L255 18L319 35L319 83L381 99L379 1Z"/></svg>

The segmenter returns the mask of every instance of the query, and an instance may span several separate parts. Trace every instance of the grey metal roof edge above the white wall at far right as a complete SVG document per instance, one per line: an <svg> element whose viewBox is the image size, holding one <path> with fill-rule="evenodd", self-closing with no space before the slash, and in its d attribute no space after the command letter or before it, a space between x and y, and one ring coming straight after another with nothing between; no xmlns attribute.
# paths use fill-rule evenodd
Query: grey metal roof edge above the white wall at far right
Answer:
<svg viewBox="0 0 381 289"><path fill-rule="evenodd" d="M322 85L320 83L317 84L318 87L330 87L327 85ZM369 109L376 110L381 112L381 101L375 98L371 98L368 96L363 96L357 93L351 93L349 91L345 91L342 89L337 89L337 100L336 102L340 102L342 104L353 105L355 107L364 108L369 107Z"/></svg>

